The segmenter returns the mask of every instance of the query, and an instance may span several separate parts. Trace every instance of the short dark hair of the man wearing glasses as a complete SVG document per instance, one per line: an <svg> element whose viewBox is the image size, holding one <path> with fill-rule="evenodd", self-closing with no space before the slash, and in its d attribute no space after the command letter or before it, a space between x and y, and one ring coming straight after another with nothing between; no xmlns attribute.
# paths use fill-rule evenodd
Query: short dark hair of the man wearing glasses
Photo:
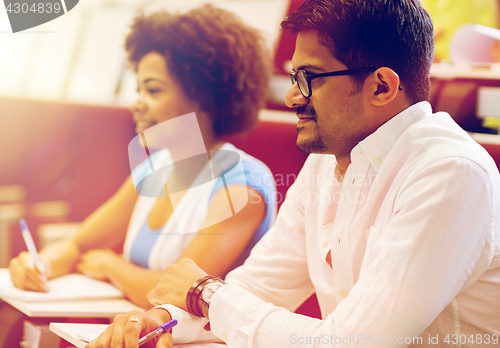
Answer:
<svg viewBox="0 0 500 348"><path fill-rule="evenodd" d="M306 0L281 26L292 34L316 30L348 69L388 67L412 103L429 100L433 27L418 0ZM362 84L367 76L351 78Z"/></svg>

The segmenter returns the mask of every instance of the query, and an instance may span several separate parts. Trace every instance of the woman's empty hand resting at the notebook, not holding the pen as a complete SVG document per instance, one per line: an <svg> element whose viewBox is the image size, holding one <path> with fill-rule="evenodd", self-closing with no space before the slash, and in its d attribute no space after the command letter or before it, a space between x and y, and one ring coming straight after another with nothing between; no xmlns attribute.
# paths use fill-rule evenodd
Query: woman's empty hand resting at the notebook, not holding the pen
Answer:
<svg viewBox="0 0 500 348"><path fill-rule="evenodd" d="M76 269L91 278L107 281L110 278L108 269L116 267L115 265L120 261L122 261L121 256L113 250L94 249L87 251L80 257Z"/></svg>

